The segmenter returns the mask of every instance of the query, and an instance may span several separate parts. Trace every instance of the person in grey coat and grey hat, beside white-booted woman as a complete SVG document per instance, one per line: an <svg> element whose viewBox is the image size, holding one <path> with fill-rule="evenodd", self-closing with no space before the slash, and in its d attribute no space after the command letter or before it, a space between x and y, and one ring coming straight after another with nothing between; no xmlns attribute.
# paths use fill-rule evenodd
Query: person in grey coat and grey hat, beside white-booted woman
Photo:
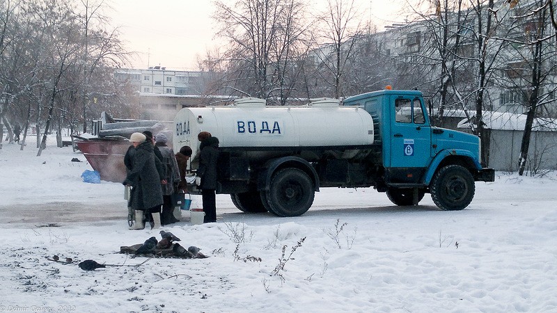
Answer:
<svg viewBox="0 0 557 313"><path fill-rule="evenodd" d="M178 169L178 162L174 156L174 151L168 147L166 143L168 138L163 133L155 136L155 147L159 148L162 154L162 167L164 169L164 179L166 184L162 186L162 211L161 211L161 225L168 225L176 223L180 220L174 217L174 204L172 202L172 194L175 192L174 186L180 183L180 170Z"/></svg>

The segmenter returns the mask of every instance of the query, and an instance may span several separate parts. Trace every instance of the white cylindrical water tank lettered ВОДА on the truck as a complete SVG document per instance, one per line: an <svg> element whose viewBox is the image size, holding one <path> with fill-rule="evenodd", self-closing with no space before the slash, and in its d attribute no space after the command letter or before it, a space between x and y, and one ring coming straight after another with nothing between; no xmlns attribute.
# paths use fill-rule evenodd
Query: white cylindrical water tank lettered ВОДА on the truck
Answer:
<svg viewBox="0 0 557 313"><path fill-rule="evenodd" d="M197 134L209 131L219 147L320 147L370 145L373 121L355 106L338 100L315 99L306 106L265 106L265 100L245 98L232 106L185 108L175 119L175 151L189 145L196 156Z"/></svg>

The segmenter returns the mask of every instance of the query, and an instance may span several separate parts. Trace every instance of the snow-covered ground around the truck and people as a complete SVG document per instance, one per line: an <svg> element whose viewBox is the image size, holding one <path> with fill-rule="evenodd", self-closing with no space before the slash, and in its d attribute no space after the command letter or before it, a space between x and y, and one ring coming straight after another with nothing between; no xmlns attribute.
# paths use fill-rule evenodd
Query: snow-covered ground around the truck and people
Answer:
<svg viewBox="0 0 557 313"><path fill-rule="evenodd" d="M83 155L51 145L0 150L0 312L557 312L554 172L498 172L463 211L322 188L277 218L218 195L218 223L163 227L209 258L147 259L119 253L160 239L127 230L123 186L82 182Z"/></svg>

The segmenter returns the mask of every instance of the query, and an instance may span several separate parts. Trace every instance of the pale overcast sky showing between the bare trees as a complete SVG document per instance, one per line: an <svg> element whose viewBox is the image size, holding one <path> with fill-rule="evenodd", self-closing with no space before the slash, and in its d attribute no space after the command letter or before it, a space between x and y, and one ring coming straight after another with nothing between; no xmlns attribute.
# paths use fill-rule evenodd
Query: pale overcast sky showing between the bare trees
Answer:
<svg viewBox="0 0 557 313"><path fill-rule="evenodd" d="M78 0L79 1L79 0ZM395 0L399 1L399 0ZM324 6L327 0L312 0ZM119 26L129 51L138 52L134 68L161 65L173 70L197 70L197 56L219 45L215 34L213 1L210 0L109 0L106 14ZM362 19L390 24L398 10L393 1L356 0ZM370 10L371 8L371 10ZM400 22L400 18L393 17Z"/></svg>

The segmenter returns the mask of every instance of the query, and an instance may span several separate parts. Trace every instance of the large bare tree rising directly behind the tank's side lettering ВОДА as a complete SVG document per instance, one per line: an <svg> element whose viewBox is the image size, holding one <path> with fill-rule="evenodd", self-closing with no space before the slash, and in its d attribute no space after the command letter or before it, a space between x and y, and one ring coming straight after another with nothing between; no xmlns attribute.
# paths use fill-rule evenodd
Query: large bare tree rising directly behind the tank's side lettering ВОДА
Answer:
<svg viewBox="0 0 557 313"><path fill-rule="evenodd" d="M290 61L303 33L299 0L238 0L233 6L217 1L214 18L219 35L228 39L225 52L228 88L240 95L271 98L278 90L283 103ZM292 78L292 77L290 77Z"/></svg>

